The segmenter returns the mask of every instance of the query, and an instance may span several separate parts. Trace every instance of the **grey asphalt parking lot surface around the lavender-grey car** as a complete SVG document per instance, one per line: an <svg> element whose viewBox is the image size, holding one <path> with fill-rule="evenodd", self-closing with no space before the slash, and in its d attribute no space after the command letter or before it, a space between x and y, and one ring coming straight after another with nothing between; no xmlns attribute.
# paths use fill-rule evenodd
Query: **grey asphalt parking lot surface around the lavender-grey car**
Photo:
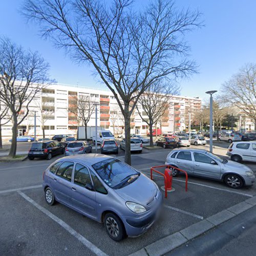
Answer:
<svg viewBox="0 0 256 256"><path fill-rule="evenodd" d="M142 154L132 154L132 165L149 177L150 167L162 165L169 152L163 148L143 148ZM156 255L154 248L160 250L163 247L161 240L165 237L256 196L256 186L236 190L221 182L193 177L189 177L188 191L185 192L184 178L175 178L173 187L176 191L164 199L165 207L159 222L139 238L116 243L106 236L101 224L61 204L48 206L45 203L41 189L42 173L59 157L62 156L49 161L35 159L1 163L0 255L120 255L120 251L128 255L141 250ZM118 158L124 160L123 151L119 152ZM255 164L246 164L256 173ZM154 181L159 187L163 185L162 177L155 175ZM243 219L241 215L237 217L239 221ZM217 245L215 251L221 249L221 245ZM219 253L216 255L221 255L221 251Z"/></svg>

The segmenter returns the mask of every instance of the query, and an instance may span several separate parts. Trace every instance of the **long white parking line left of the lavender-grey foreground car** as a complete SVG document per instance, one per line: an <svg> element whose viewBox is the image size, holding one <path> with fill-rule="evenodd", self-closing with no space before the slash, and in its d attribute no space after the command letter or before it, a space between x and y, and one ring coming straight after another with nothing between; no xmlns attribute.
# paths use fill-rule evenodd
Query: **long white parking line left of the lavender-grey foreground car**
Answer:
<svg viewBox="0 0 256 256"><path fill-rule="evenodd" d="M17 193L22 196L24 199L26 199L28 202L33 204L38 210L41 212L44 212L45 215L47 215L49 218L54 220L56 223L58 223L61 227L66 229L72 236L74 236L76 239L78 239L84 246L86 246L89 250L94 252L96 255L102 255L107 256L108 254L101 251L98 247L96 247L94 244L92 244L90 241L88 241L86 238L84 238L80 233L76 232L71 226L69 226L66 222L59 219L57 216L52 214L49 210L45 209L44 207L40 206L38 203L36 203L33 199L28 197L26 194L24 194L21 191L17 191Z"/></svg>

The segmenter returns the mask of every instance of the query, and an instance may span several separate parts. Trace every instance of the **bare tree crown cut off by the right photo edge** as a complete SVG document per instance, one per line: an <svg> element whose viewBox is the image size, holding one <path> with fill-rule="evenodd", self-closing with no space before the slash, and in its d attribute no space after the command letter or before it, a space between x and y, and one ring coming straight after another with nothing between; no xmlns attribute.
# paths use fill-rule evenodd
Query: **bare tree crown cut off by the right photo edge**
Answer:
<svg viewBox="0 0 256 256"><path fill-rule="evenodd" d="M235 105L254 122L256 129L256 64L249 63L222 84L222 102Z"/></svg>

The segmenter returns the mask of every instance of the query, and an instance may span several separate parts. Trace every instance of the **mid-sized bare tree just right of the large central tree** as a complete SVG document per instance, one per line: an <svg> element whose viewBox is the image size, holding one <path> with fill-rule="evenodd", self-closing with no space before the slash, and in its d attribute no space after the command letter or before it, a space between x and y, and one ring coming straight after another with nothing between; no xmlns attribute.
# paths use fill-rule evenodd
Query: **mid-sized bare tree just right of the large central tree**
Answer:
<svg viewBox="0 0 256 256"><path fill-rule="evenodd" d="M146 91L140 95L138 103L141 105L145 115L143 116L143 112L141 113L139 110L138 113L141 119L146 122L150 128L150 146L154 146L153 125L162 121L164 113L169 108L169 100L171 96L177 94L178 91L178 87L171 83L164 83L160 80L152 83L150 87L148 87Z"/></svg>

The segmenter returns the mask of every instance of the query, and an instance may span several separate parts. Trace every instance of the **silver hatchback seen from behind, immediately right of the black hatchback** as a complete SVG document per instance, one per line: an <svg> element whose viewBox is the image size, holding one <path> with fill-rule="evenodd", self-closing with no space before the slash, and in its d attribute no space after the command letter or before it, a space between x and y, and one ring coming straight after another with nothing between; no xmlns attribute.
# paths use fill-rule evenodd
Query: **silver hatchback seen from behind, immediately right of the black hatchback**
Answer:
<svg viewBox="0 0 256 256"><path fill-rule="evenodd" d="M92 146L86 140L67 142L65 156L92 153Z"/></svg>

